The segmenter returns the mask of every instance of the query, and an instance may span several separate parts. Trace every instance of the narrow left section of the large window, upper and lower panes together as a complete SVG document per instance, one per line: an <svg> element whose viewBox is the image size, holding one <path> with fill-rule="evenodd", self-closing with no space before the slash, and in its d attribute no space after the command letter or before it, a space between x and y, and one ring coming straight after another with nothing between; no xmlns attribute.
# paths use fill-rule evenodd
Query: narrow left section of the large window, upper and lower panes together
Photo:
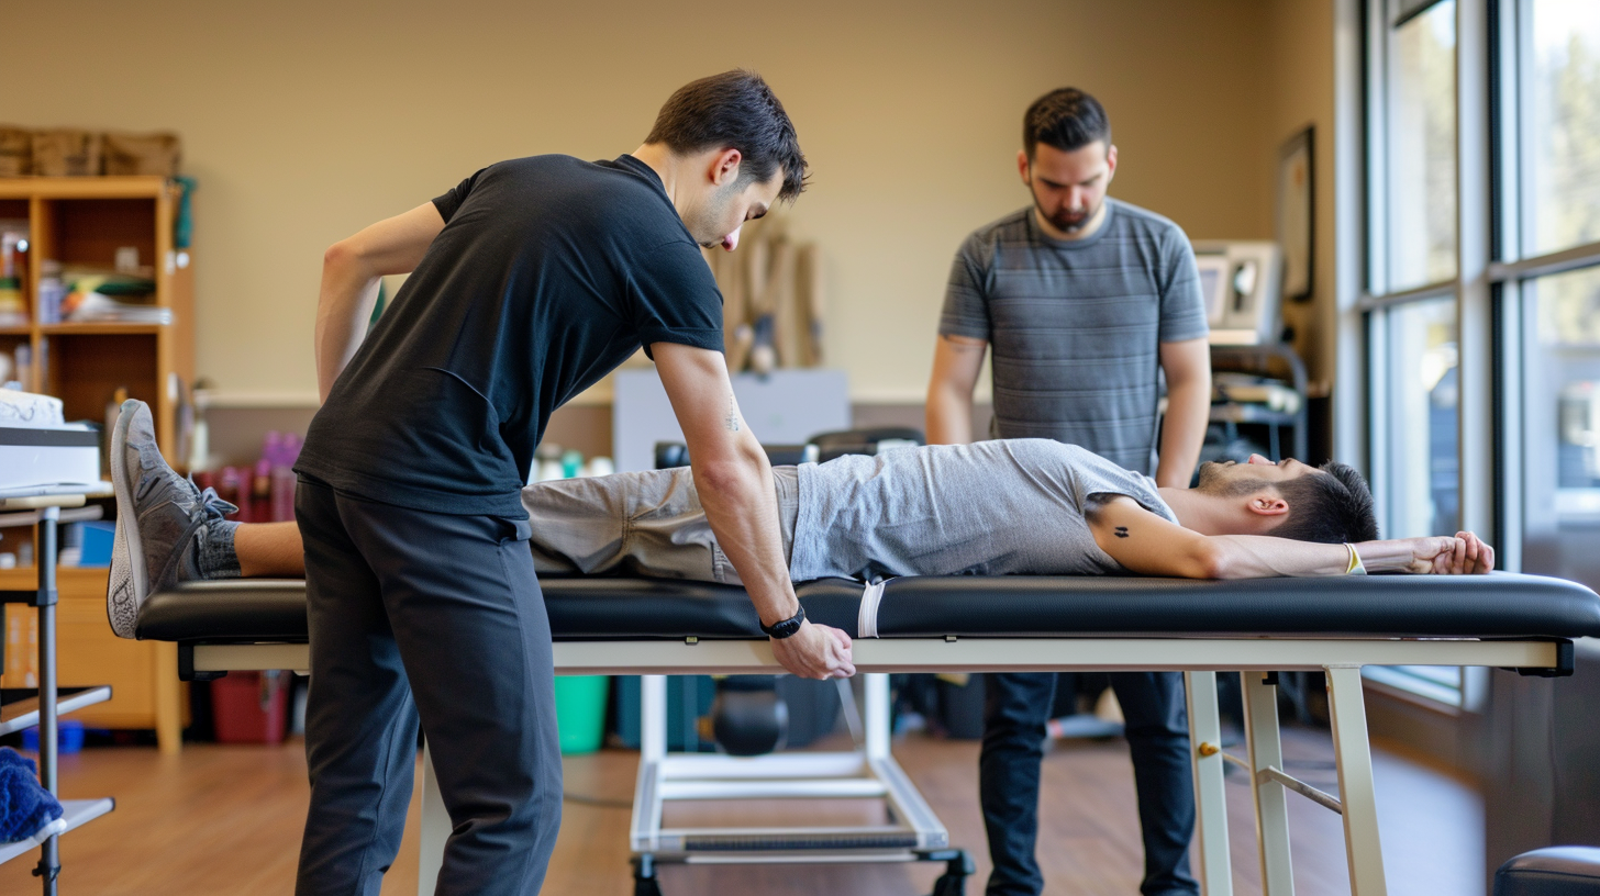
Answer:
<svg viewBox="0 0 1600 896"><path fill-rule="evenodd" d="M1456 3L1374 0L1371 446L1390 538L1459 523Z"/></svg>

